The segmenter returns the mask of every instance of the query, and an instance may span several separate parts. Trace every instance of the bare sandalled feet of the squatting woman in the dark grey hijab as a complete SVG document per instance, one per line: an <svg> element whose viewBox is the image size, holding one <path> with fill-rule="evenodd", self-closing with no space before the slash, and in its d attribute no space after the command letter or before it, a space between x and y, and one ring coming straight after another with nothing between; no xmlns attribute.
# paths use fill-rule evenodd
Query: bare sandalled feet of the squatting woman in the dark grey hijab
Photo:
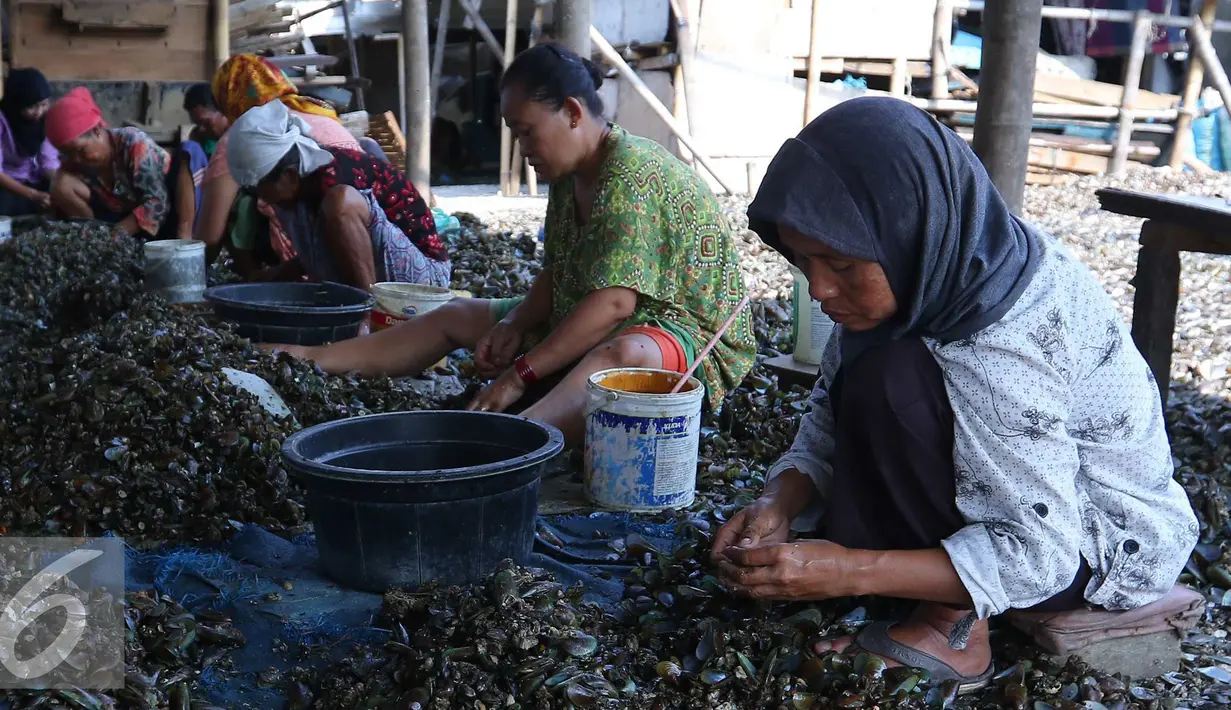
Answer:
<svg viewBox="0 0 1231 710"><path fill-rule="evenodd" d="M987 664L992 660L992 647L987 640L987 621L975 624L965 650L956 651L949 647L949 631L966 614L969 612L964 609L922 603L911 614L910 620L895 624L889 630L889 636L899 644L936 656L963 676L979 676L987 669ZM827 651L842 652L853 641L853 636L820 641L816 644L815 651L817 655ZM885 661L889 666L899 664L888 658Z"/></svg>

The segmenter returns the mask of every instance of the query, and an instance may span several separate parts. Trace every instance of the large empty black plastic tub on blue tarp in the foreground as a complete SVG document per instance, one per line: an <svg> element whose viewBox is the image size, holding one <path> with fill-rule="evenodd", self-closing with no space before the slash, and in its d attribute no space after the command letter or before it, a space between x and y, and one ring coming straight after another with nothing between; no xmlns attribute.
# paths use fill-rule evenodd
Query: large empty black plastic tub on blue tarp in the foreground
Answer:
<svg viewBox="0 0 1231 710"><path fill-rule="evenodd" d="M474 582L534 544L555 427L513 415L416 411L327 422L282 444L308 491L320 560L347 587Z"/></svg>

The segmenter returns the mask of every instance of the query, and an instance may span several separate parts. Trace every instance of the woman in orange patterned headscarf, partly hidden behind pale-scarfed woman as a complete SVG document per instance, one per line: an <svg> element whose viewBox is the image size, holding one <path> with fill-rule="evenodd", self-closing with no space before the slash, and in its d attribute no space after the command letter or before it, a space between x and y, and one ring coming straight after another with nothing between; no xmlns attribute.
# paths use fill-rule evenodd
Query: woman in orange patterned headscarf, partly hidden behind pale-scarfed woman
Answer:
<svg viewBox="0 0 1231 710"><path fill-rule="evenodd" d="M300 96L282 70L262 57L231 57L218 68L212 86L218 110L231 123L250 108L281 101L292 114L308 124L313 140L323 146L359 148L336 111L323 101ZM240 196L239 185L228 171L227 144L227 135L223 135L206 169L197 239L217 253L229 237L236 271L249 281L299 278L298 261L293 258L295 251L286 234L288 228L294 229L291 224L293 215L259 202L252 196ZM234 226L228 234L227 224L231 214ZM262 218L268 220L268 240L260 235Z"/></svg>

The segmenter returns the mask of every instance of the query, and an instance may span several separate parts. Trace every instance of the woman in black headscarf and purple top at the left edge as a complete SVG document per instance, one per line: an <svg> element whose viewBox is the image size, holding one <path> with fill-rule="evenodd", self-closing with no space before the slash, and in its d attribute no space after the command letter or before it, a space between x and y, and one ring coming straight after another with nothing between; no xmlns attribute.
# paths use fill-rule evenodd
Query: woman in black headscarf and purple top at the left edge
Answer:
<svg viewBox="0 0 1231 710"><path fill-rule="evenodd" d="M59 153L43 126L52 87L37 69L14 69L0 98L0 214L33 214L50 207L48 188Z"/></svg>

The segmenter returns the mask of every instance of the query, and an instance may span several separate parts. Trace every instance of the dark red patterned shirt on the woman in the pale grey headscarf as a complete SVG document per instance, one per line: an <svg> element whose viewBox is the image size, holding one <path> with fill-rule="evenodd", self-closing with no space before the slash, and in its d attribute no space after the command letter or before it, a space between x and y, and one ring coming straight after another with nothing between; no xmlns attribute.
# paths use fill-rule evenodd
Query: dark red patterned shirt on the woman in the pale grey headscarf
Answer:
<svg viewBox="0 0 1231 710"><path fill-rule="evenodd" d="M314 174L321 194L335 185L348 185L359 192L371 189L389 221L409 236L423 256L436 261L449 260L448 250L436 234L432 210L405 174L362 150L321 148L334 154L334 162Z"/></svg>

